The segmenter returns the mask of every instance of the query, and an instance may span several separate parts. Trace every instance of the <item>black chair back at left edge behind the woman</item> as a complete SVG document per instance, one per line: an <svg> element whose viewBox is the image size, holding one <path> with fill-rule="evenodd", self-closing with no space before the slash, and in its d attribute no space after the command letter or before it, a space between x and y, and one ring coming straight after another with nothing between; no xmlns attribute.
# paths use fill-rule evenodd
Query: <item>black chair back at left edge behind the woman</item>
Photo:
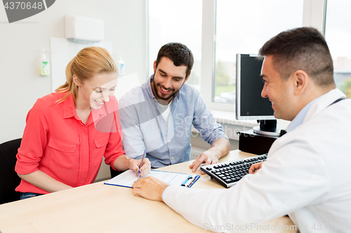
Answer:
<svg viewBox="0 0 351 233"><path fill-rule="evenodd" d="M0 144L0 204L20 199L20 192L15 191L21 181L15 172L15 164L21 140L15 139Z"/></svg>

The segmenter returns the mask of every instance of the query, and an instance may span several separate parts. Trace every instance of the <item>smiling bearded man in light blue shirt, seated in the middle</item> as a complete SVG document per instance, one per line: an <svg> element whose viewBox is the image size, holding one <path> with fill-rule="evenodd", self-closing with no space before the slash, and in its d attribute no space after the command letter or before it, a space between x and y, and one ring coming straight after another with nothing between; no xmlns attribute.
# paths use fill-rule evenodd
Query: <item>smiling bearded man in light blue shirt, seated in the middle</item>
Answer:
<svg viewBox="0 0 351 233"><path fill-rule="evenodd" d="M128 157L146 157L152 168L190 160L192 125L211 144L190 165L214 164L227 155L230 143L223 127L213 118L204 99L185 82L190 77L194 57L187 46L167 43L154 61L154 74L119 101L124 150ZM202 172L202 171L201 171Z"/></svg>

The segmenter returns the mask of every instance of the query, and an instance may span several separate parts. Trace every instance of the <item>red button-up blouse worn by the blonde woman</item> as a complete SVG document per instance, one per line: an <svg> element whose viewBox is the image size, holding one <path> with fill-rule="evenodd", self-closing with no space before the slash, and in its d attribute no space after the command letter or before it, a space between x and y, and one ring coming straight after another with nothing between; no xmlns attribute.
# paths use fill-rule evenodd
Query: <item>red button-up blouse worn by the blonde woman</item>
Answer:
<svg viewBox="0 0 351 233"><path fill-rule="evenodd" d="M55 103L65 94L52 93L38 99L27 114L15 171L30 174L39 169L77 187L95 181L102 156L113 168L114 160L124 155L122 131L115 97L99 110L92 110L84 125L77 116L72 94ZM48 193L23 180L15 190Z"/></svg>

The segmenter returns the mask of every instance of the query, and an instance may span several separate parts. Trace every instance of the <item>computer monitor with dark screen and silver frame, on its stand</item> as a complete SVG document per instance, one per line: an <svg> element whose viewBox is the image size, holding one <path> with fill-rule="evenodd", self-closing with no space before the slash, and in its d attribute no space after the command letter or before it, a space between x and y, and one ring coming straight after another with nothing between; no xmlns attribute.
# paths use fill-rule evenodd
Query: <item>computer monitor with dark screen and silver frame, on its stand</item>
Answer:
<svg viewBox="0 0 351 233"><path fill-rule="evenodd" d="M260 72L263 59L258 55L237 54L237 120L258 120L260 127L253 130L259 134L277 136L277 120L272 103L261 97L263 81Z"/></svg>

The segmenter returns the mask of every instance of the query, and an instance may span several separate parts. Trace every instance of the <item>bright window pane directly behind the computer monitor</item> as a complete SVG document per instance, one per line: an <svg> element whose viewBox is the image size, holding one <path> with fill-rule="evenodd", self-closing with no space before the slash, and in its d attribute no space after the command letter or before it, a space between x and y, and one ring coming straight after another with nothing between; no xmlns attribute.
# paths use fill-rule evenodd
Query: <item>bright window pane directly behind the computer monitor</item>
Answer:
<svg viewBox="0 0 351 233"><path fill-rule="evenodd" d="M272 36L301 27L303 0L217 0L216 8L213 101L234 104L236 54L257 54Z"/></svg>

